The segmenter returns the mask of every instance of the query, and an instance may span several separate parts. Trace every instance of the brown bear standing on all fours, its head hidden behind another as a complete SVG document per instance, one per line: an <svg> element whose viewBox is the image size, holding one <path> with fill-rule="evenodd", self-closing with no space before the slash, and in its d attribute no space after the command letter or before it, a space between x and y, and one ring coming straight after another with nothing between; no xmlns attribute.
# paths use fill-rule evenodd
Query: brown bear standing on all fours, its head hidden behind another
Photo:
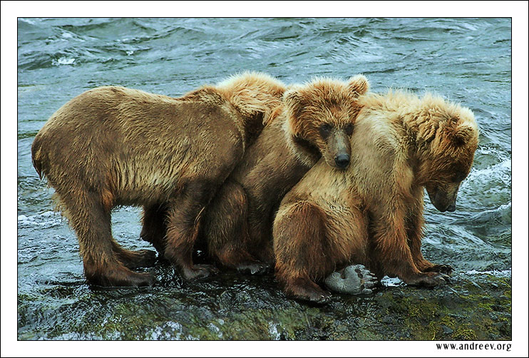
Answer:
<svg viewBox="0 0 529 358"><path fill-rule="evenodd" d="M75 230L88 282L151 285L130 268L155 256L120 247L111 210L166 208L165 257L186 279L213 268L193 265L201 213L245 149L281 103L285 86L262 73L232 76L217 86L171 98L130 88L94 88L45 123L31 147L38 175Z"/></svg>

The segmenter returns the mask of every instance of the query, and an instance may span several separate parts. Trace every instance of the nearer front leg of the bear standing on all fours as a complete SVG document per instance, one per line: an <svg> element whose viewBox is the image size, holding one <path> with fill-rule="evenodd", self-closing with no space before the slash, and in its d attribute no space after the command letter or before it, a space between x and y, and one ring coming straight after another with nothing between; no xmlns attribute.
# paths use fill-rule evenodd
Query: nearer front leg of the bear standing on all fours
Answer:
<svg viewBox="0 0 529 358"><path fill-rule="evenodd" d="M194 265L192 261L201 216L212 193L215 190L210 183L195 181L185 185L180 195L170 203L165 258L180 270L185 280L208 277L218 272L212 265Z"/></svg>

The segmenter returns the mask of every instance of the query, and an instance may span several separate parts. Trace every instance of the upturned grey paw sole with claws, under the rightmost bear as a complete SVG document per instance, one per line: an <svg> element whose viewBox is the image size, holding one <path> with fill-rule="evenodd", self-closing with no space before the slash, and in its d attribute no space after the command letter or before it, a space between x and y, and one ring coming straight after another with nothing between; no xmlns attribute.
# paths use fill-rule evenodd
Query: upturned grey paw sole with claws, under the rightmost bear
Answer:
<svg viewBox="0 0 529 358"><path fill-rule="evenodd" d="M351 265L333 272L325 279L329 290L349 295L369 294L376 284L376 277L364 265Z"/></svg>

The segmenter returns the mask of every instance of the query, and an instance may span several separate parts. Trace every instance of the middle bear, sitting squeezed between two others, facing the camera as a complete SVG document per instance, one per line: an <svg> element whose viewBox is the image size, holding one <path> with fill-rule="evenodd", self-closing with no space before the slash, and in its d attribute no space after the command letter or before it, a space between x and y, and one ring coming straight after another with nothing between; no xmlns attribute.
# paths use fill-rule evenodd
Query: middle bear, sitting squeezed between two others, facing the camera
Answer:
<svg viewBox="0 0 529 358"><path fill-rule="evenodd" d="M284 93L283 105L247 150L205 213L201 237L224 267L252 273L273 261L272 223L285 193L320 157L344 170L349 136L366 93L364 76L348 82L316 78Z"/></svg>

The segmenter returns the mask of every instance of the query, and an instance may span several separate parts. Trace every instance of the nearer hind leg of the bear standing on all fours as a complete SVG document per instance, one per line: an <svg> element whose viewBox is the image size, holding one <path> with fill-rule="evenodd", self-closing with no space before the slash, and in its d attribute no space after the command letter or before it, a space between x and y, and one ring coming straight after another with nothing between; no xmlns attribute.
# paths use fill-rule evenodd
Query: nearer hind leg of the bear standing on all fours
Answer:
<svg viewBox="0 0 529 358"><path fill-rule="evenodd" d="M129 270L115 254L113 247L119 245L112 237L111 212L103 205L100 195L83 190L66 195L58 193L58 197L77 234L88 282L101 286L153 285L153 275Z"/></svg>

